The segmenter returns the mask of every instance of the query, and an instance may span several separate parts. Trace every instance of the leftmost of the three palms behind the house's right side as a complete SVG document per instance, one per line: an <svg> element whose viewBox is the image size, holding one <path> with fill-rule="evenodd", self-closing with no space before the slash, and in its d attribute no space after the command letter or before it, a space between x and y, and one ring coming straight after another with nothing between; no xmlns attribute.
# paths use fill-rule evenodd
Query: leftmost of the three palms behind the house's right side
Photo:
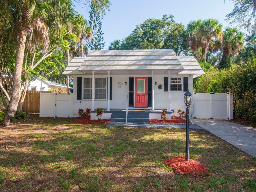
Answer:
<svg viewBox="0 0 256 192"><path fill-rule="evenodd" d="M187 24L187 30L185 31L185 43L196 54L197 61L200 62L200 56L198 52L199 46L202 46L202 38L200 37L199 27L202 23L201 19L192 20Z"/></svg>

